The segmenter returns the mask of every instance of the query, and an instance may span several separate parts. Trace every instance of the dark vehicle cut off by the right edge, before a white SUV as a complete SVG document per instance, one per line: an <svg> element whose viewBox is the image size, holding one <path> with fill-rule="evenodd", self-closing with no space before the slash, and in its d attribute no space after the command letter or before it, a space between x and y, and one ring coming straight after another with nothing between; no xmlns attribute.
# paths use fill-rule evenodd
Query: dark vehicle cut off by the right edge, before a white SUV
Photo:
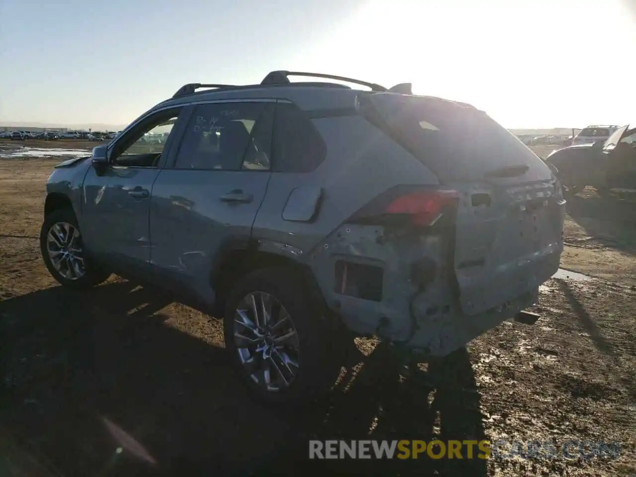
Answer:
<svg viewBox="0 0 636 477"><path fill-rule="evenodd" d="M618 128L606 141L557 149L546 158L563 188L599 192L636 189L636 123Z"/></svg>

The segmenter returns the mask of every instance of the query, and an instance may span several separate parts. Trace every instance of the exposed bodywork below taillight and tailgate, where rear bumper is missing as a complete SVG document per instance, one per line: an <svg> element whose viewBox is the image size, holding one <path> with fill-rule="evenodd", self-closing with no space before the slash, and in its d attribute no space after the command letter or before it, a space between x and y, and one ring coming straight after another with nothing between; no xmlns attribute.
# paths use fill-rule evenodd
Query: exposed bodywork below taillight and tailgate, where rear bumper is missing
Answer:
<svg viewBox="0 0 636 477"><path fill-rule="evenodd" d="M480 314L464 314L451 247L452 240L440 235L385 235L381 226L343 225L305 258L328 306L349 329L445 356L537 300L532 289ZM380 266L382 301L345 294L335 273L338 260Z"/></svg>

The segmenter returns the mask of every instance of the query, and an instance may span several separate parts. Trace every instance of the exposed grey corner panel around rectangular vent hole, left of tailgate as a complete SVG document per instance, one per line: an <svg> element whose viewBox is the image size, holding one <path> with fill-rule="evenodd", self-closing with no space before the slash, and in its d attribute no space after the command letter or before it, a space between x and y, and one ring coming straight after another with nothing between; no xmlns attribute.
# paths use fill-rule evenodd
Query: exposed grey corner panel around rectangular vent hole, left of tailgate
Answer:
<svg viewBox="0 0 636 477"><path fill-rule="evenodd" d="M308 260L328 304L349 328L406 342L421 319L443 310L448 313L452 308L448 244L436 235L387 233L382 226L345 224L329 235ZM381 301L345 294L356 293L344 290L352 284L336 276L339 260L382 268Z"/></svg>

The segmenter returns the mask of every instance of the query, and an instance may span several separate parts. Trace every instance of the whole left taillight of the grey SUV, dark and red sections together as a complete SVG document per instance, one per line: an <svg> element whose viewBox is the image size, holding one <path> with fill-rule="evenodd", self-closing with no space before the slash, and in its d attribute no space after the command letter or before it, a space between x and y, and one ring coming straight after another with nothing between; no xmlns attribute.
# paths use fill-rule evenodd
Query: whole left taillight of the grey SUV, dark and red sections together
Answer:
<svg viewBox="0 0 636 477"><path fill-rule="evenodd" d="M352 220L432 226L445 215L454 216L458 202L459 193L455 190L400 186L372 200L356 212Z"/></svg>

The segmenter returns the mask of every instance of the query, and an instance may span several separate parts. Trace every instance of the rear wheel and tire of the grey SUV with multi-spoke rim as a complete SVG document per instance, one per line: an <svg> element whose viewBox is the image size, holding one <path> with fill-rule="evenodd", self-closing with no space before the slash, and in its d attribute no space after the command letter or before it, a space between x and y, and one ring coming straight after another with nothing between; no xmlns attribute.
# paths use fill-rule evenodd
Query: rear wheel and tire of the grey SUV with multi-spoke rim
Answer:
<svg viewBox="0 0 636 477"><path fill-rule="evenodd" d="M328 318L301 283L291 268L256 270L226 300L225 347L249 391L265 403L309 403L340 372L343 340L329 333Z"/></svg>

